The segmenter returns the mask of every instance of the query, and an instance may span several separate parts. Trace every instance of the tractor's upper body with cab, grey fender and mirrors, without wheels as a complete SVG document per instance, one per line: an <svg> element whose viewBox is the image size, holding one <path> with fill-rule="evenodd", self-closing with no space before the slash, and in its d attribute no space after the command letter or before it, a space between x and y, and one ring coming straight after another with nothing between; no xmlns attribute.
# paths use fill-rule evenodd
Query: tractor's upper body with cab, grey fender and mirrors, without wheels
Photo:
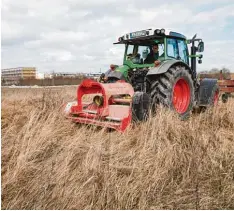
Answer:
<svg viewBox="0 0 234 211"><path fill-rule="evenodd" d="M195 42L198 42L198 46L195 46ZM131 32L119 37L114 44L124 44L125 52L123 65L111 72L109 78L111 81L121 79L121 72L123 78L130 83L135 83L135 76L149 79L151 75L164 73L176 62L190 69L196 80L196 60L198 58L198 63L202 63L203 57L197 55L197 52L204 51L204 43L202 39L196 39L196 35L192 39L186 39L180 33L165 29ZM190 54L188 44L191 44Z"/></svg>

